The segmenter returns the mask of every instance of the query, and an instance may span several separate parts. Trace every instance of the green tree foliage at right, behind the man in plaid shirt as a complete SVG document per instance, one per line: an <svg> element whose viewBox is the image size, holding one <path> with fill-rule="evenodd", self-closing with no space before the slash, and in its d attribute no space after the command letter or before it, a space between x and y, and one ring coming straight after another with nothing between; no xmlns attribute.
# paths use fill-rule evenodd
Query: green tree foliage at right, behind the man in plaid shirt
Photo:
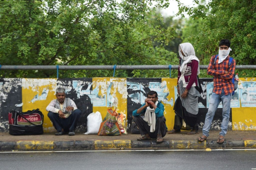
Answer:
<svg viewBox="0 0 256 170"><path fill-rule="evenodd" d="M221 39L231 41L230 53L237 65L256 65L256 1L211 0L208 4L194 0L196 8L180 5L180 13L187 12L191 19L202 18L198 34L193 36L194 46L205 52L201 61L208 64L210 56L218 53ZM238 71L238 70L237 70ZM239 70L239 75L255 77L255 71Z"/></svg>

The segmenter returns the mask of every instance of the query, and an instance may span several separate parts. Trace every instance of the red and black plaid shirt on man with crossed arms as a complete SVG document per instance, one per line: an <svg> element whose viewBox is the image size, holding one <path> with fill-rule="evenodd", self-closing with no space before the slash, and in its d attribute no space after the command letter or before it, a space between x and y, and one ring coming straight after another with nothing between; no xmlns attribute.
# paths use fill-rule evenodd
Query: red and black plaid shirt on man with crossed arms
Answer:
<svg viewBox="0 0 256 170"><path fill-rule="evenodd" d="M221 63L218 63L219 57L217 57L215 64L215 56L211 56L209 66L207 68L207 74L214 76L213 77L213 92L221 95L222 90L224 89L225 95L230 94L234 91L234 84L232 83L232 78L235 73L235 60L232 60L232 63L230 65L229 69L229 58L230 56L227 56L227 58L222 61ZM228 74L225 74L225 71L228 71Z"/></svg>

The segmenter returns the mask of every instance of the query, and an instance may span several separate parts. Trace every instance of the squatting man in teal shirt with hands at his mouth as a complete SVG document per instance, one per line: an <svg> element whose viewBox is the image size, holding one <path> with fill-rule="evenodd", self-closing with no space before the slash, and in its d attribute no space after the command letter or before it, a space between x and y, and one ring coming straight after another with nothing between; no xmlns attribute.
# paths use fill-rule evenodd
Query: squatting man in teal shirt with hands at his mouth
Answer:
<svg viewBox="0 0 256 170"><path fill-rule="evenodd" d="M167 132L166 119L163 116L164 110L163 104L158 102L157 92L150 91L147 93L145 103L141 108L133 111L133 119L142 135L137 139L138 141L157 138L157 143L163 142L163 137ZM144 113L144 118L142 118L140 115Z"/></svg>

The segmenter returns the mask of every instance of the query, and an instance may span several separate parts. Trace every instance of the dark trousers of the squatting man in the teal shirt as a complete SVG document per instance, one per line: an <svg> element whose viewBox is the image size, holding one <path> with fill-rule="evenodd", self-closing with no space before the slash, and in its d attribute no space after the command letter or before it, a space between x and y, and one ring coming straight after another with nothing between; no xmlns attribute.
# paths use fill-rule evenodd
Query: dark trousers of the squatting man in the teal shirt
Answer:
<svg viewBox="0 0 256 170"><path fill-rule="evenodd" d="M145 122L145 120L143 120L141 116L134 117L133 120L138 126L139 132L141 133L142 136L149 134L150 138L157 138L158 135L162 137L166 135L166 131L167 131L166 124L165 124L166 119L164 116L157 118L154 132L150 132L150 126L147 125L147 122Z"/></svg>

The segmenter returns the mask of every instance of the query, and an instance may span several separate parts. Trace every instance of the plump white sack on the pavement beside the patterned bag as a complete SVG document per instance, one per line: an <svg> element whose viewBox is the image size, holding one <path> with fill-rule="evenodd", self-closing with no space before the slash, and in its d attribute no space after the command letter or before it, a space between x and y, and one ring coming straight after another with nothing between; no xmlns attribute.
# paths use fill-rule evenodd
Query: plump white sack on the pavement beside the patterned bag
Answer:
<svg viewBox="0 0 256 170"><path fill-rule="evenodd" d="M101 122L102 117L100 112L97 111L96 113L90 113L87 116L87 132L85 134L98 134Z"/></svg>

